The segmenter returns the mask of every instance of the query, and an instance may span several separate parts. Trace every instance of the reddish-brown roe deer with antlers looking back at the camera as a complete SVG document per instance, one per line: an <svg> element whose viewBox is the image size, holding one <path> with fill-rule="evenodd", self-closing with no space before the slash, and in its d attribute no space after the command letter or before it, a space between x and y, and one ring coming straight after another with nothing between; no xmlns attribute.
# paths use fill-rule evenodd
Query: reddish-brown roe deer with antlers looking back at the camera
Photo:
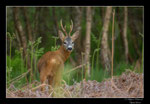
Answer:
<svg viewBox="0 0 150 104"><path fill-rule="evenodd" d="M61 30L59 30L58 35L62 41L62 45L56 51L49 51L45 53L38 61L38 70L40 73L40 81L42 84L48 79L48 84L52 87L60 84L61 74L64 69L64 63L69 57L71 51L74 48L74 41L79 36L79 31L76 31L72 36L70 35L73 29L73 22L71 21L70 32L67 34L66 26L63 27L62 20L60 21ZM41 88L44 90L44 87Z"/></svg>

